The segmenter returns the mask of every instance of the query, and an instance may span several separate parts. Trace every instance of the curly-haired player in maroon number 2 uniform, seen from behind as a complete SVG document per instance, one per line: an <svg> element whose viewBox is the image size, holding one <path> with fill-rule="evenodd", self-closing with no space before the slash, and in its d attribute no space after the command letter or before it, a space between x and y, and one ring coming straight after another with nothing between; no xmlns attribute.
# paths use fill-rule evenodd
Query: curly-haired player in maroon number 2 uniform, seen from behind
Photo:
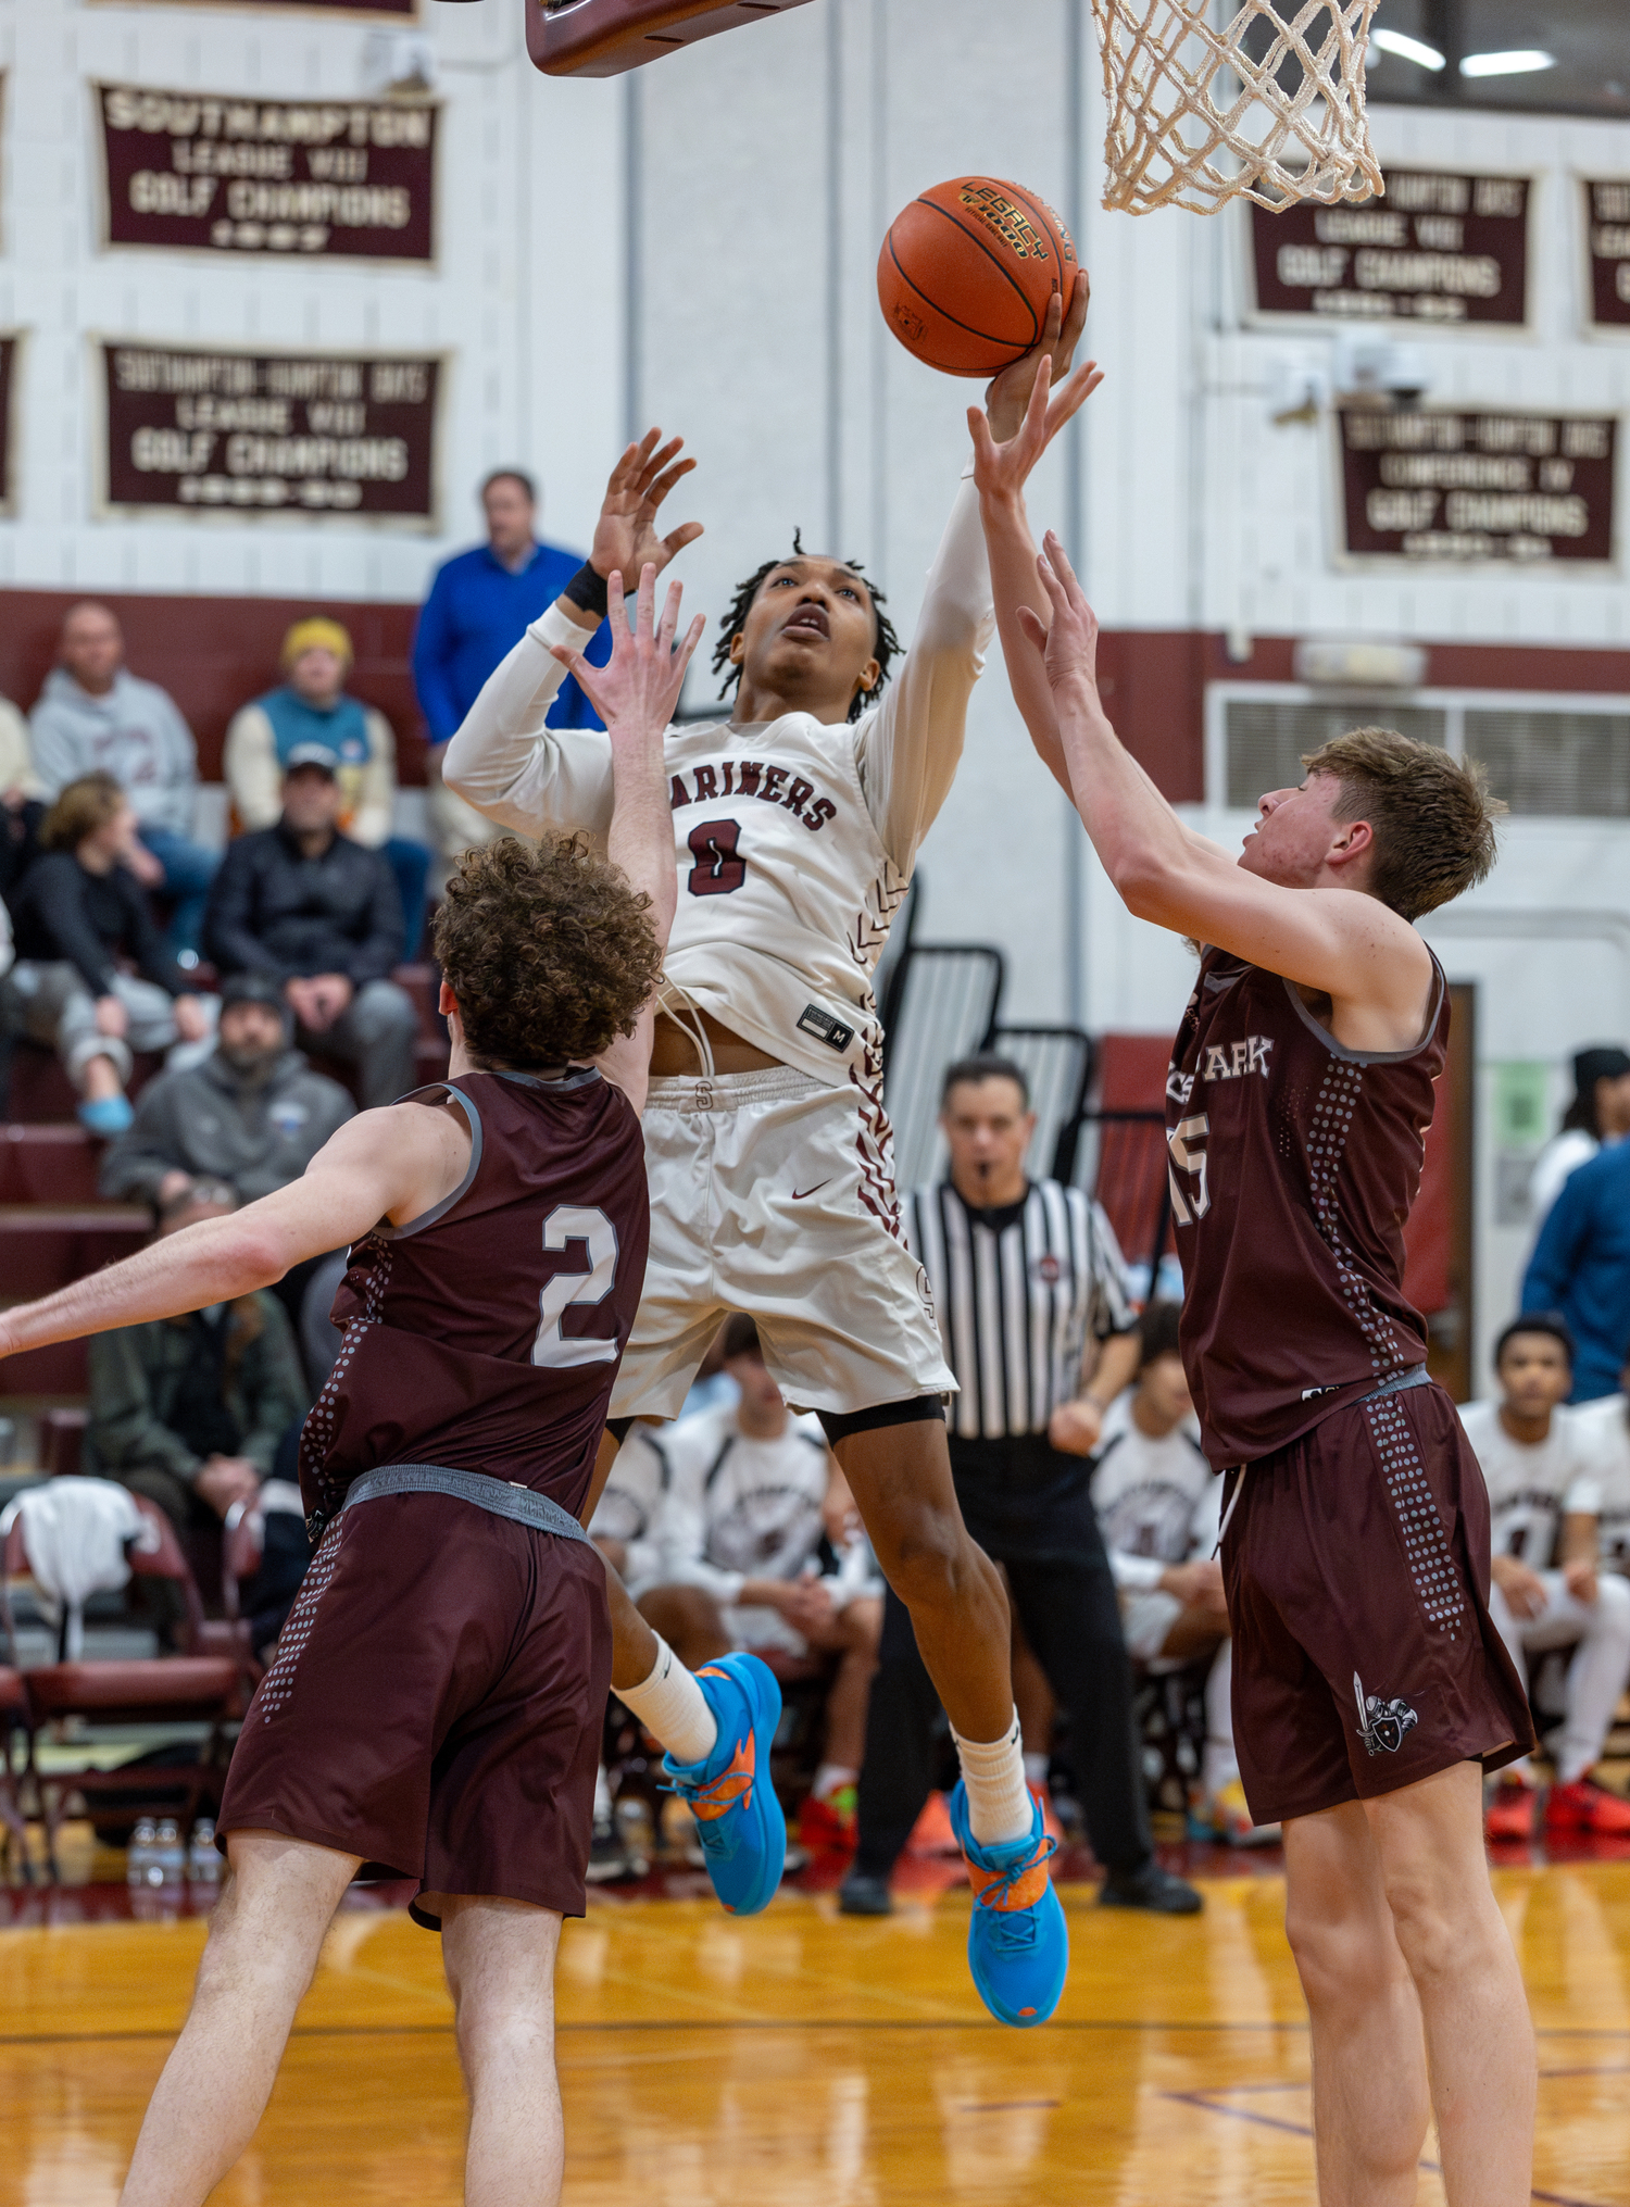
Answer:
<svg viewBox="0 0 1630 2207"><path fill-rule="evenodd" d="M412 1913L441 1929L468 2196L560 2196L554 1962L585 1907L611 1666L578 1514L644 1273L662 731L701 629L671 651L673 591L653 638L653 580L637 638L613 589L598 686L613 863L505 839L448 887L448 1081L342 1126L260 1203L0 1315L0 1353L33 1348L245 1296L353 1238L302 1450L326 1532L232 1759L232 1876L124 2207L199 2207L245 2150L364 1863L419 1878Z"/></svg>

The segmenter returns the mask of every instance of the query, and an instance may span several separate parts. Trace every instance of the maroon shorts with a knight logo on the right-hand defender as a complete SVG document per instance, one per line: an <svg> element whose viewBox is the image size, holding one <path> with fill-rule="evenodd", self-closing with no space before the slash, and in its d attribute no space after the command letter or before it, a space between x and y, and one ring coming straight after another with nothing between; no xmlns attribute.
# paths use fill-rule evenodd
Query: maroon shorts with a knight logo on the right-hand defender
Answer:
<svg viewBox="0 0 1630 2207"><path fill-rule="evenodd" d="M1489 1494L1440 1386L1332 1410L1242 1481L1222 1540L1233 1728L1257 1823L1533 1746L1489 1622Z"/></svg>

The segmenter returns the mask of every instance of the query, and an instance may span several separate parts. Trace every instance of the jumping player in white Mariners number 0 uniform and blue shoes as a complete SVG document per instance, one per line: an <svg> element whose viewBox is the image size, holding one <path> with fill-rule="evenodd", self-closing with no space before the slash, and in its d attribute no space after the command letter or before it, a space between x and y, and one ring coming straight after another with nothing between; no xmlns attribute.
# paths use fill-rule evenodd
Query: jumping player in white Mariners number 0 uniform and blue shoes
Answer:
<svg viewBox="0 0 1630 2207"><path fill-rule="evenodd" d="M1085 282L1063 329L1054 298L1043 344L986 393L993 435L1019 426L1041 358L1068 364L1083 316ZM1094 382L1083 369L1057 393L1048 435ZM596 695L580 651L602 578L697 534L655 534L655 508L688 466L675 452L655 430L629 448L589 565L452 739L448 786L507 828L604 832L604 737L545 731L545 713L567 667ZM1057 2006L1068 1958L1052 1841L1023 1781L1001 1582L951 1485L940 1397L955 1382L900 1238L871 1000L988 640L990 578L964 481L887 695L898 640L880 594L851 563L794 547L750 576L726 616L715 664L737 693L730 719L671 731L682 883L646 1106L653 1247L613 1426L675 1417L719 1322L757 1318L783 1395L821 1415L957 1735L955 1816L982 1902L975 1982L995 2015L1034 2024ZM746 1772L719 1759L695 1684L615 1587L613 1633L620 1699L666 1744L704 1845L726 1845L708 1830L730 1808L715 1788ZM715 1887L730 1898L717 1865Z"/></svg>

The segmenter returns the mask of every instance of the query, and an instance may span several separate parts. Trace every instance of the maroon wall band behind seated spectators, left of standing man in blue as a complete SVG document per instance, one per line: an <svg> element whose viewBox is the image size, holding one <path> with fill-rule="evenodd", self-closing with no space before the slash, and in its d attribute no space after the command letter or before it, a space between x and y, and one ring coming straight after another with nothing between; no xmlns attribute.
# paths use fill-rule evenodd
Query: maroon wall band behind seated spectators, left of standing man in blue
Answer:
<svg viewBox="0 0 1630 2207"><path fill-rule="evenodd" d="M318 598L159 598L130 591L0 591L0 695L26 713L57 655L62 616L95 598L124 625L132 675L161 682L199 737L199 775L221 781L227 722L280 680L278 653L296 620L322 614L351 631L351 691L377 704L397 733L397 781L423 783L419 700L412 691L417 605L346 605Z"/></svg>

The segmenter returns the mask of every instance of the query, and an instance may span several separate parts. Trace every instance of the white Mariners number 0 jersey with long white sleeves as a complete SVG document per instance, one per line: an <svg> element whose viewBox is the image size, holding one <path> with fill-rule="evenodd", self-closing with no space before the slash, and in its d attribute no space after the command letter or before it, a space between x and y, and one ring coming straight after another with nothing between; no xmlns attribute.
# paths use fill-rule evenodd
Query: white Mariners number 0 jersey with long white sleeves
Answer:
<svg viewBox="0 0 1630 2207"><path fill-rule="evenodd" d="M871 971L918 847L962 759L968 697L995 629L979 501L964 483L882 702L858 722L809 713L668 728L679 909L664 1002L686 1002L827 1086L876 1081ZM611 828L611 744L545 728L582 629L549 611L492 673L448 746L443 779L523 834Z"/></svg>

